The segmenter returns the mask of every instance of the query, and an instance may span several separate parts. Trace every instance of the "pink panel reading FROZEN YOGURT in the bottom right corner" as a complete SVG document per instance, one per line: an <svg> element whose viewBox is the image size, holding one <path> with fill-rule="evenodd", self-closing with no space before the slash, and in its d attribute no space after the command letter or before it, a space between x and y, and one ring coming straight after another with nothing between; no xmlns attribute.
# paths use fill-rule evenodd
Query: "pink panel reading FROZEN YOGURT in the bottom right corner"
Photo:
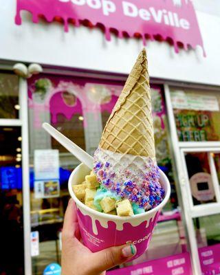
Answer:
<svg viewBox="0 0 220 275"><path fill-rule="evenodd" d="M220 274L220 244L199 248L203 275Z"/></svg>

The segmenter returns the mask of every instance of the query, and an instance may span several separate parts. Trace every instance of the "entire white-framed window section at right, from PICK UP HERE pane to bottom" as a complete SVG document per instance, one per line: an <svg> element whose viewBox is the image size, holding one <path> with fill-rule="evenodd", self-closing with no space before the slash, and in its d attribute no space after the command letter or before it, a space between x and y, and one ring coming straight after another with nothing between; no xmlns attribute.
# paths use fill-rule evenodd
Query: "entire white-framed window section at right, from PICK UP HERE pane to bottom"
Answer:
<svg viewBox="0 0 220 275"><path fill-rule="evenodd" d="M194 274L219 274L220 92L165 90Z"/></svg>

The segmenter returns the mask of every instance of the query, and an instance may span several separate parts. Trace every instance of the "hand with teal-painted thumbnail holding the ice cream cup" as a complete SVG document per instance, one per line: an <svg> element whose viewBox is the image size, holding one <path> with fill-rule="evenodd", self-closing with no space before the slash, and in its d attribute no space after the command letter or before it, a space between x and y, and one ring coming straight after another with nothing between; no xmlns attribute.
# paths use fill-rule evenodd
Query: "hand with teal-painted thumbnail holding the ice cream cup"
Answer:
<svg viewBox="0 0 220 275"><path fill-rule="evenodd" d="M70 199L62 232L62 275L104 275L105 270L128 261L136 253L133 244L92 253L80 243L80 239L76 207L74 200Z"/></svg>

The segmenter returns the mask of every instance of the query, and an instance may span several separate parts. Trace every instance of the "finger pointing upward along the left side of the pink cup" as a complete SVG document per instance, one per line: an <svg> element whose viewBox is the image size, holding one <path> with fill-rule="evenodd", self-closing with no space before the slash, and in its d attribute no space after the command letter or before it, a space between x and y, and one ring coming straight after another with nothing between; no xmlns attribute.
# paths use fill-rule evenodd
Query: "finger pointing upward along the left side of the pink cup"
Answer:
<svg viewBox="0 0 220 275"><path fill-rule="evenodd" d="M78 228L76 207L73 199L69 199L63 222L63 236L73 237Z"/></svg>

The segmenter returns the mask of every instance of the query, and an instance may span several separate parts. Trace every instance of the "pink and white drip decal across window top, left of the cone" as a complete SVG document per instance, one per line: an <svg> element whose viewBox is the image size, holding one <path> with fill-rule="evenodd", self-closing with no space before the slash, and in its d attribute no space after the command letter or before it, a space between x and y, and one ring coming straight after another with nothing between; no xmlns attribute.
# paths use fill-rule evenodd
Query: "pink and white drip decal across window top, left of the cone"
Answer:
<svg viewBox="0 0 220 275"><path fill-rule="evenodd" d="M122 90L120 85L86 83L71 78L37 77L28 80L28 106L34 113L34 128L41 129L45 113L50 112L51 122L58 122L58 115L71 120L74 115L83 118L87 127L87 115L98 120L100 112L109 114Z"/></svg>

